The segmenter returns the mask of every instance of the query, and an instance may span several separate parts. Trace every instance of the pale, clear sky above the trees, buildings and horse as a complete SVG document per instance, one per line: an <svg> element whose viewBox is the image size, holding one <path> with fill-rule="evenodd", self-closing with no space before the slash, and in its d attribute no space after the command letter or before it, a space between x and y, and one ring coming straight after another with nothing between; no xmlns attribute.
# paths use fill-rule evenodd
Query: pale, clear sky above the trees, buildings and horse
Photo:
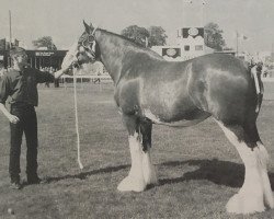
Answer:
<svg viewBox="0 0 274 219"><path fill-rule="evenodd" d="M0 38L9 38L9 10L12 36L28 49L42 36L69 48L83 32L82 20L117 34L129 25L162 26L169 45L178 28L214 22L228 47L236 48L236 31L248 37L239 50L272 50L274 44L274 0L0 0Z"/></svg>

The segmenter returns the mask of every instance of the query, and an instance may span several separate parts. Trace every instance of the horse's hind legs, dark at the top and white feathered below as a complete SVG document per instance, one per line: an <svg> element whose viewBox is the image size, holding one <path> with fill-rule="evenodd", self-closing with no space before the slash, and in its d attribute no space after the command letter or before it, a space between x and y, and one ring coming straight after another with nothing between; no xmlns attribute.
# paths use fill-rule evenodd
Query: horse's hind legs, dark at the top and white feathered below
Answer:
<svg viewBox="0 0 274 219"><path fill-rule="evenodd" d="M227 211L236 214L260 212L273 208L273 195L266 171L267 151L262 145L255 124L246 127L217 122L238 150L246 168L244 183L230 198Z"/></svg>

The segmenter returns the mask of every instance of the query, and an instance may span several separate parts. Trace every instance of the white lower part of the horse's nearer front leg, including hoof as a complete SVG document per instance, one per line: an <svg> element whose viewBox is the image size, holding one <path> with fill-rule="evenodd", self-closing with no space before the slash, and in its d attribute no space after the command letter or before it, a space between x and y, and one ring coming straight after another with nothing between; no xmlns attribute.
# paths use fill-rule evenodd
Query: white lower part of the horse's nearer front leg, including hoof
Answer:
<svg viewBox="0 0 274 219"><path fill-rule="evenodd" d="M118 191L127 192L141 192L146 188L146 183L142 173L142 150L138 134L129 136L129 149L132 157L132 168L127 177L125 177L118 185Z"/></svg>

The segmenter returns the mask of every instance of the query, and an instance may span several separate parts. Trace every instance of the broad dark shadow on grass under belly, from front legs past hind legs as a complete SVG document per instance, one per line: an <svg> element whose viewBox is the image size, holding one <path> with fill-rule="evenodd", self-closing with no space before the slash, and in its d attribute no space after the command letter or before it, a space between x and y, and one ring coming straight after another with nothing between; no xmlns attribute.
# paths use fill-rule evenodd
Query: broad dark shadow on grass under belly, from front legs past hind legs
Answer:
<svg viewBox="0 0 274 219"><path fill-rule="evenodd" d="M160 166L180 166L180 165L195 165L197 170L187 172L181 177L162 178L159 180L159 185L174 184L191 180L207 180L218 185L226 185L229 187L241 187L244 177L243 164L233 163L229 161L214 160L189 160L189 161L173 161L159 164ZM183 166L182 166L183 169ZM269 173L272 189L274 189L274 173Z"/></svg>

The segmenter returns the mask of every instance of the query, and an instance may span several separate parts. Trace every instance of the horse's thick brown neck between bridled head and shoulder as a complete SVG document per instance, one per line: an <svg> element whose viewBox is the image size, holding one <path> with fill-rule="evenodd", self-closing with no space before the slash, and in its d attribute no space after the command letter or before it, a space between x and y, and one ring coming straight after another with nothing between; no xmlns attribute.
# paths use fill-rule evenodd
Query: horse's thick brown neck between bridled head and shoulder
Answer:
<svg viewBox="0 0 274 219"><path fill-rule="evenodd" d="M144 48L136 46L132 42L102 30L96 32L96 42L100 47L101 60L115 84L119 80L123 65L128 61L128 54L134 56L134 54L145 53Z"/></svg>

